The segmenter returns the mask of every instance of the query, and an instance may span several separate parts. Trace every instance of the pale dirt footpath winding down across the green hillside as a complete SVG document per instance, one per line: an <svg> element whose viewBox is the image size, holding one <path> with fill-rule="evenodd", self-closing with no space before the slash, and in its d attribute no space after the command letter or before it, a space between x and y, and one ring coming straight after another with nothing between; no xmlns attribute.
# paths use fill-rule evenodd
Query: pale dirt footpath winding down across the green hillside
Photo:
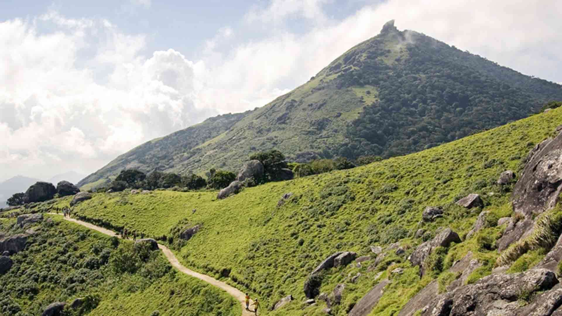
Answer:
<svg viewBox="0 0 562 316"><path fill-rule="evenodd" d="M62 216L60 214L56 214L56 213L47 213L47 214L51 214L51 215L59 215ZM82 225L84 227L93 229L94 231L98 231L100 233L106 234L108 236L115 236L117 238L121 238L121 236L119 234L117 234L114 231L110 231L109 229L105 229L87 222L83 222L81 220L78 219L74 219L74 218L68 218L68 217L63 217L65 220L68 220L69 222L73 222L79 225ZM195 272L191 269L185 268L182 264L179 263L178 258L176 258L176 256L174 255L173 252L171 252L170 249L168 249L168 247L164 246L164 245L160 245L160 243L158 243L158 248L160 250L162 250L162 252L164 253L164 255L166 256L166 259L168 259L168 261L170 261L170 264L180 270L180 272L187 274L188 276L192 276L194 278L198 278L201 281L205 281L207 283L209 283L212 286L216 286L218 288L220 288L223 291L226 291L228 294L232 295L234 297L235 300L237 300L241 305L242 305L242 316L250 316L250 315L254 315L253 312L248 312L246 310L246 303L244 300L244 297L246 297L246 295L244 295L244 293L242 293L242 291L238 290L235 287L232 287L224 282L221 282L215 278L212 278L210 276L207 276L205 274L201 274L198 272ZM253 304L252 301L250 301L250 305Z"/></svg>

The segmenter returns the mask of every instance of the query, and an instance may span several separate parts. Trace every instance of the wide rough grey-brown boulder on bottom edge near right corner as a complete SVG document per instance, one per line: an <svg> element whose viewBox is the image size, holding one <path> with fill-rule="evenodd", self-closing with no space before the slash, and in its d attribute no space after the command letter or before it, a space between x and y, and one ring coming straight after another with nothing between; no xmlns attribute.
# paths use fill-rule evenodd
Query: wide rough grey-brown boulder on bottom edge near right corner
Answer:
<svg viewBox="0 0 562 316"><path fill-rule="evenodd" d="M522 273L496 273L435 297L422 315L528 315L520 314L520 299L550 290L558 283L553 272L531 269Z"/></svg>

